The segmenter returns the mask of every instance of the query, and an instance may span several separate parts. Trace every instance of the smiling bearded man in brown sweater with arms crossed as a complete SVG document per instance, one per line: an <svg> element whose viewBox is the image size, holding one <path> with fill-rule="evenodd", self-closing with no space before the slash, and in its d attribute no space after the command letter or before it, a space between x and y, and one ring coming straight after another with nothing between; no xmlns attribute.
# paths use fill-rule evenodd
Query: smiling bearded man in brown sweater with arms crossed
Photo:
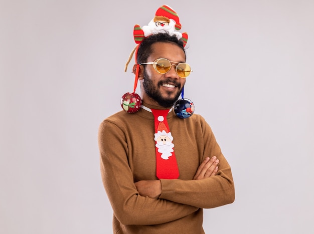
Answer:
<svg viewBox="0 0 314 234"><path fill-rule="evenodd" d="M178 118L173 110L191 72L184 46L178 34L145 37L133 66L141 108L100 124L114 233L204 233L203 208L234 201L231 168L210 126L200 115Z"/></svg>

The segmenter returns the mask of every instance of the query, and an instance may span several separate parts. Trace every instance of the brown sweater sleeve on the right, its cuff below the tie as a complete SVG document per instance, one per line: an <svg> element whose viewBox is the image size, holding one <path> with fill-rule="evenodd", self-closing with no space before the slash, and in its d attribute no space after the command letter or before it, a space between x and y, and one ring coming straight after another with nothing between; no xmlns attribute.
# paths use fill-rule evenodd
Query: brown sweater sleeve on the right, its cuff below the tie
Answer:
<svg viewBox="0 0 314 234"><path fill-rule="evenodd" d="M202 160L209 156L219 159L219 170L215 176L201 180L161 179L160 198L193 205L200 208L214 208L234 201L235 190L230 165L221 152L210 126L202 123L204 152Z"/></svg>

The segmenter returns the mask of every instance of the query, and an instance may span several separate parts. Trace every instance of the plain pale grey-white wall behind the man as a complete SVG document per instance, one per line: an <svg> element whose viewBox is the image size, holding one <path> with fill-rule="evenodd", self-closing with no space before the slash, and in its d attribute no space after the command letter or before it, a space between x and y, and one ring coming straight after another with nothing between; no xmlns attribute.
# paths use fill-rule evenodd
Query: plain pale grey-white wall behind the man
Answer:
<svg viewBox="0 0 314 234"><path fill-rule="evenodd" d="M163 4L189 35L185 97L234 175L205 231L313 233L312 0L1 0L1 233L112 233L98 126L133 90L133 26Z"/></svg>

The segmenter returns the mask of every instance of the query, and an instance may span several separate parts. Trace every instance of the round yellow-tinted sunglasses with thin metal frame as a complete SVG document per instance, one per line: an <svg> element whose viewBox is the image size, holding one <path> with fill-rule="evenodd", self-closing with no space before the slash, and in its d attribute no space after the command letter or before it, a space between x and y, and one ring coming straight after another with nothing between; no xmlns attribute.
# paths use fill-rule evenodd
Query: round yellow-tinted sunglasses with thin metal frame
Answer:
<svg viewBox="0 0 314 234"><path fill-rule="evenodd" d="M154 62L141 63L139 65L151 64L156 72L160 74L166 74L170 71L171 66L176 66L176 72L181 78L187 78L192 72L190 65L187 63L177 63L177 65L171 63L177 62L169 61L168 59L156 59Z"/></svg>

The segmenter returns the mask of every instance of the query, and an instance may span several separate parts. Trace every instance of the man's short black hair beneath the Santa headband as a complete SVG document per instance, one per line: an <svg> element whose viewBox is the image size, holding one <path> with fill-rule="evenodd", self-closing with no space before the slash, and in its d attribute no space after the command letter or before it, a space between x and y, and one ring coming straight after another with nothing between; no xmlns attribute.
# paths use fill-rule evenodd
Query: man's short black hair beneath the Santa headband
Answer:
<svg viewBox="0 0 314 234"><path fill-rule="evenodd" d="M149 37L144 38L140 43L137 51L137 64L147 63L147 59L152 53L151 46L156 42L174 43L178 45L183 50L184 55L186 55L183 41L178 39L177 36L171 36L168 33L152 34Z"/></svg>

